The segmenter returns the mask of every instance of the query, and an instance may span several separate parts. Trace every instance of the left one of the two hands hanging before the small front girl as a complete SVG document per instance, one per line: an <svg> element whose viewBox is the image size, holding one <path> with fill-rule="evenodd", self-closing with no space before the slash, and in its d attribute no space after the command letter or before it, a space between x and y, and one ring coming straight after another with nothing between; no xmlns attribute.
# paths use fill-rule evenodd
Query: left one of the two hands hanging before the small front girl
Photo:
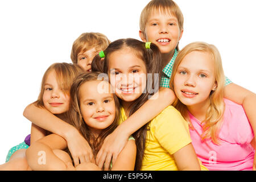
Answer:
<svg viewBox="0 0 256 182"><path fill-rule="evenodd" d="M77 131L72 131L66 138L75 167L84 162L95 163L92 148L84 137Z"/></svg>

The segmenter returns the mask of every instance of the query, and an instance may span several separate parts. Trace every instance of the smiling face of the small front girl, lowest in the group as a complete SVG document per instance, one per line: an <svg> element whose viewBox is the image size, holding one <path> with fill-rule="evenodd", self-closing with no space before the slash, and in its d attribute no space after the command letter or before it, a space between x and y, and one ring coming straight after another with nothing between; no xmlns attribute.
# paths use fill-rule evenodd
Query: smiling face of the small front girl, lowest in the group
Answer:
<svg viewBox="0 0 256 182"><path fill-rule="evenodd" d="M80 86L80 110L90 130L98 133L115 119L115 101L106 81L87 81Z"/></svg>

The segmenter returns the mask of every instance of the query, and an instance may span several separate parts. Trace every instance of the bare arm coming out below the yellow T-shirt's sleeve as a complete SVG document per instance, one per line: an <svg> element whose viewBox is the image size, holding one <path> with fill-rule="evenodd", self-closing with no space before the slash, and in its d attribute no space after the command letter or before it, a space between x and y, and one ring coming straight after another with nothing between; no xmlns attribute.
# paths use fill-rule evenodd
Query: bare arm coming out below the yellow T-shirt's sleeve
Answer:
<svg viewBox="0 0 256 182"><path fill-rule="evenodd" d="M174 154L174 160L177 165L177 168L180 171L200 171L201 167L196 156L196 152L192 146L192 143L189 143L187 146L181 148Z"/></svg>

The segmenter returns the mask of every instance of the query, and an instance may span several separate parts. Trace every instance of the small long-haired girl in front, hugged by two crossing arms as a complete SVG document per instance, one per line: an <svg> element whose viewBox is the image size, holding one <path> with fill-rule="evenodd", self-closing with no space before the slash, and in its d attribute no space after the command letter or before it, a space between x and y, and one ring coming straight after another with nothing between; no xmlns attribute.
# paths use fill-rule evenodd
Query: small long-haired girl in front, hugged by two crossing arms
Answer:
<svg viewBox="0 0 256 182"><path fill-rule="evenodd" d="M71 87L71 105L69 121L92 148L94 158L100 150L103 140L114 131L119 121L119 101L111 91L109 82L99 78L100 73L82 73ZM72 159L63 151L67 141L56 134L48 135L27 149L27 160L34 170L102 170L96 164L84 162L76 167ZM44 151L45 163L39 164L38 152ZM108 169L133 170L136 157L136 145L133 137L118 155L115 163Z"/></svg>

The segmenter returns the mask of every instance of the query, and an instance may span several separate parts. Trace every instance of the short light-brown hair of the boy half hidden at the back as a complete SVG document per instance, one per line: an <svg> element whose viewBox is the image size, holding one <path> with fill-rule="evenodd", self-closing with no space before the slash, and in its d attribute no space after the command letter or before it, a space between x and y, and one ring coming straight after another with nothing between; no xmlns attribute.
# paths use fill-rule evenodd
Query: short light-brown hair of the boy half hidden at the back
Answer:
<svg viewBox="0 0 256 182"><path fill-rule="evenodd" d="M75 40L71 50L71 60L73 64L77 64L77 55L95 48L97 51L104 51L110 44L110 40L98 32L83 33Z"/></svg>

